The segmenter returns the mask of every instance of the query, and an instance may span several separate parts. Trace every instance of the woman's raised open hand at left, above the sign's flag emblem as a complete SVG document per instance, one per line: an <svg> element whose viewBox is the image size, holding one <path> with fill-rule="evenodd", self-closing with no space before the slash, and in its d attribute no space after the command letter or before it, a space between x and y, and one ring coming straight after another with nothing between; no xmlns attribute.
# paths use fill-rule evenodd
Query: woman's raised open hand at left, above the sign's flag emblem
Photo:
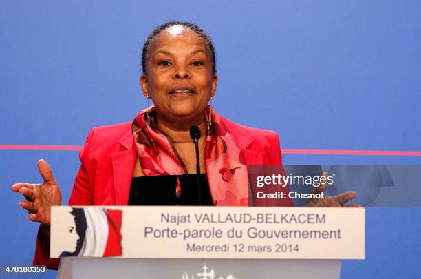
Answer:
<svg viewBox="0 0 421 279"><path fill-rule="evenodd" d="M23 209L28 210L28 219L50 226L52 205L61 205L61 192L50 169L44 160L38 161L38 169L43 184L16 183L12 191L19 192L26 200L19 203Z"/></svg>

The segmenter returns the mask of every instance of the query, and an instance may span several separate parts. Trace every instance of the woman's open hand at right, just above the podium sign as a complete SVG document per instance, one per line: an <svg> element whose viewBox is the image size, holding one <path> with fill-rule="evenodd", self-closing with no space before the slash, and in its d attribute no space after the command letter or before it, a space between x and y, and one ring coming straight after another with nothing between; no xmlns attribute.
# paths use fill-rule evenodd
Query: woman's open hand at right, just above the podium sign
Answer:
<svg viewBox="0 0 421 279"><path fill-rule="evenodd" d="M322 174L325 176L325 181L327 181L327 172L323 172ZM321 184L319 187L314 189L314 194L320 194L325 191L327 188L327 182ZM325 195L323 198L310 198L307 200L307 207L361 207L360 205L344 205L344 203L349 202L356 197L356 192L345 192L339 194L337 196L327 196Z"/></svg>

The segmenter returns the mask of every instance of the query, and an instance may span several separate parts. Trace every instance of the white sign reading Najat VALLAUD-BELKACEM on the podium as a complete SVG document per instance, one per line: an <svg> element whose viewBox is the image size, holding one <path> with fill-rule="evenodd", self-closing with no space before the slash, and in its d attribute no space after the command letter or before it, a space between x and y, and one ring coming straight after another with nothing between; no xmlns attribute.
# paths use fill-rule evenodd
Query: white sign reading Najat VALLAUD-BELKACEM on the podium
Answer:
<svg viewBox="0 0 421 279"><path fill-rule="evenodd" d="M365 209L53 207L50 256L364 259Z"/></svg>

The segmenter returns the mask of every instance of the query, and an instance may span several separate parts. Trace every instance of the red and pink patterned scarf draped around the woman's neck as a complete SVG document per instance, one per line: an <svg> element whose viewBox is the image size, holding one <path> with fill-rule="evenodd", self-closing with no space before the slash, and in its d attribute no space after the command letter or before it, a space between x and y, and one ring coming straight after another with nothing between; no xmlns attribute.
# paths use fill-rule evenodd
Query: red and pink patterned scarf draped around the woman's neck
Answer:
<svg viewBox="0 0 421 279"><path fill-rule="evenodd" d="M150 110L151 126L147 125ZM205 119L208 119L208 106ZM206 134L205 166L214 205L248 206L248 172L243 152L212 110L212 126ZM133 121L132 131L142 171L146 176L186 174L170 139L155 123L155 107L142 110ZM193 143L192 143L193 144ZM177 194L180 194L180 181Z"/></svg>

